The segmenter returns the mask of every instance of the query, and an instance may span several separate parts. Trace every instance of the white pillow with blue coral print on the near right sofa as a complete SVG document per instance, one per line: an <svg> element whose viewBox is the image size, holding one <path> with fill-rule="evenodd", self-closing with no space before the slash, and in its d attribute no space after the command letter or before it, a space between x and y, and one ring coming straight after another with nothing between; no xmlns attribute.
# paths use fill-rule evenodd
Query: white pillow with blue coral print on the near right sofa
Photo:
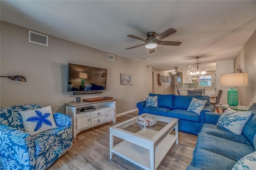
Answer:
<svg viewBox="0 0 256 170"><path fill-rule="evenodd" d="M220 116L217 126L225 128L234 134L241 134L251 115L252 112L234 111L228 108Z"/></svg>

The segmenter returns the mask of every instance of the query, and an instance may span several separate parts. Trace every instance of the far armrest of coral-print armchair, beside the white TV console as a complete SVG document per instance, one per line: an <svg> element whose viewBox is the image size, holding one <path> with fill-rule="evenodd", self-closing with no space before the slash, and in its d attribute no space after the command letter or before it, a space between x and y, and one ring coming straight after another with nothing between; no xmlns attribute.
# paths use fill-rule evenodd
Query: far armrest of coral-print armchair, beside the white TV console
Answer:
<svg viewBox="0 0 256 170"><path fill-rule="evenodd" d="M55 112L53 117L57 127L69 127L73 125L73 117L69 115Z"/></svg>

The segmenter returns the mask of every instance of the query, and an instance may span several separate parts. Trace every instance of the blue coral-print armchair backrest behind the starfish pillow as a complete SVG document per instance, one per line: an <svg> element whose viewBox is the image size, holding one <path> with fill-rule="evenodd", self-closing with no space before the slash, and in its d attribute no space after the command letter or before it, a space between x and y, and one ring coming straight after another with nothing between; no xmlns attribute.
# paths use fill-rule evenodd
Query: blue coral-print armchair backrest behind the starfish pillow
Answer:
<svg viewBox="0 0 256 170"><path fill-rule="evenodd" d="M0 124L24 131L20 111L27 111L39 108L41 108L41 106L38 103L1 107Z"/></svg>

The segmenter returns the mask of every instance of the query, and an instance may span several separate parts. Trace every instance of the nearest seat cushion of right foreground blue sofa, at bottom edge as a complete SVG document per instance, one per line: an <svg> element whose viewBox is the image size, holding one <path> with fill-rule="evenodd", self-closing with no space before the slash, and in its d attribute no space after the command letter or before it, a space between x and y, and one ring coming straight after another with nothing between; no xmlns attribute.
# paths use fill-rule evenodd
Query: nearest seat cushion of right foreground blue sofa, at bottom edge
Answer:
<svg viewBox="0 0 256 170"><path fill-rule="evenodd" d="M221 162L221 163L220 163ZM236 161L225 156L196 148L191 165L201 170L230 170Z"/></svg>

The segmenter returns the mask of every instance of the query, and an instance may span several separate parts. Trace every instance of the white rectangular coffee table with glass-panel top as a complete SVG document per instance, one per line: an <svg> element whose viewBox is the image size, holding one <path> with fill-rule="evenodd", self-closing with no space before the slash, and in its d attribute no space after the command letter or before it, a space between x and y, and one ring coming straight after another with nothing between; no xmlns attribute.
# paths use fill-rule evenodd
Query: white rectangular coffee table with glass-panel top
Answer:
<svg viewBox="0 0 256 170"><path fill-rule="evenodd" d="M154 117L156 125L141 126L140 116ZM110 159L117 154L146 169L155 170L176 141L178 144L178 119L144 113L110 127ZM170 132L175 128L175 135ZM114 146L114 136L124 139Z"/></svg>

